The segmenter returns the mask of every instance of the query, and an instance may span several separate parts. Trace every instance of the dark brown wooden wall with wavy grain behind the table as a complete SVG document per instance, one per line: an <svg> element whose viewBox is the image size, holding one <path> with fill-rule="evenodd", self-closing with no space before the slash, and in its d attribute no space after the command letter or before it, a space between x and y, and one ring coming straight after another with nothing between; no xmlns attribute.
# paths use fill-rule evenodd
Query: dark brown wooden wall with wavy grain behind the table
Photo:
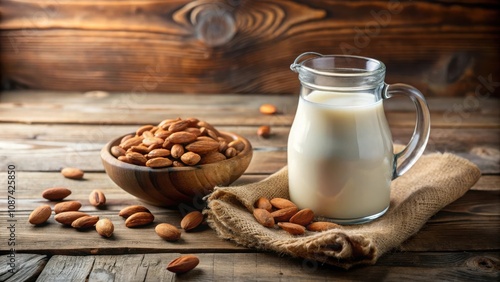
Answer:
<svg viewBox="0 0 500 282"><path fill-rule="evenodd" d="M4 90L297 93L289 65L305 51L380 59L388 82L428 96L500 82L498 0L2 0L0 12Z"/></svg>

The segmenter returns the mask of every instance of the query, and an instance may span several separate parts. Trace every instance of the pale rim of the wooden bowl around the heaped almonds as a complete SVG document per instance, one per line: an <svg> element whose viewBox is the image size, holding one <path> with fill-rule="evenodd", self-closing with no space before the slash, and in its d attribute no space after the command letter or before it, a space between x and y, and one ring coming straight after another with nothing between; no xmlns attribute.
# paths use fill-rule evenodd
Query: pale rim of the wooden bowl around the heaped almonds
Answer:
<svg viewBox="0 0 500 282"><path fill-rule="evenodd" d="M118 145L120 140L129 135L129 134L135 134L135 132L123 134L119 137L116 137L106 143L104 147L101 149L101 159L103 161L106 161L112 166L118 166L123 169L134 169L134 170L139 170L142 172L155 172L155 173L161 173L161 172L178 172L178 171L192 171L192 170L199 170L203 168L209 168L212 166L220 166L224 162L234 162L238 161L240 159L246 158L249 154L250 156L253 154L253 148L252 144L248 139L243 137L240 134L234 133L234 132L226 132L226 131L219 131L220 134L228 136L232 138L233 140L241 140L245 144L245 148L236 156L230 158L230 159L225 159L223 161L218 161L215 163L210 163L210 164L201 164L201 165L194 165L194 166L183 166L183 167L164 167L164 168L152 168L152 167L147 167L147 166L141 166L141 165L135 165L135 164L129 164L126 162L122 162L118 160L115 156L111 154L111 147Z"/></svg>

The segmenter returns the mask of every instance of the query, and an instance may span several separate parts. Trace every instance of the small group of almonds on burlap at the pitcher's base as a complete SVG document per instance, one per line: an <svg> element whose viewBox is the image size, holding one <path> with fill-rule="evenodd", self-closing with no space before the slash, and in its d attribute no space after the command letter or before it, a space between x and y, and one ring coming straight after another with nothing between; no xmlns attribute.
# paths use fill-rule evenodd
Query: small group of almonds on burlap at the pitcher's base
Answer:
<svg viewBox="0 0 500 282"><path fill-rule="evenodd" d="M273 228L277 224L292 235L302 235L306 229L320 232L340 228L340 225L332 222L313 222L314 212L311 209L299 210L297 205L284 198L259 198L254 204L253 216L265 227Z"/></svg>

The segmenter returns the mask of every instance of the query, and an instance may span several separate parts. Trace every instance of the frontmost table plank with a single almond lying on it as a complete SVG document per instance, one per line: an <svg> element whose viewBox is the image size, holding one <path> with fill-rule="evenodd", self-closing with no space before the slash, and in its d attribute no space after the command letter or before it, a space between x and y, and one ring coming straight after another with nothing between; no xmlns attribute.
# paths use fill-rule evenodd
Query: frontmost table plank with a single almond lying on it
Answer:
<svg viewBox="0 0 500 282"><path fill-rule="evenodd" d="M393 253L345 271L268 253L203 253L195 269L175 275L166 265L179 255L53 256L37 281L492 281L500 260L498 252Z"/></svg>

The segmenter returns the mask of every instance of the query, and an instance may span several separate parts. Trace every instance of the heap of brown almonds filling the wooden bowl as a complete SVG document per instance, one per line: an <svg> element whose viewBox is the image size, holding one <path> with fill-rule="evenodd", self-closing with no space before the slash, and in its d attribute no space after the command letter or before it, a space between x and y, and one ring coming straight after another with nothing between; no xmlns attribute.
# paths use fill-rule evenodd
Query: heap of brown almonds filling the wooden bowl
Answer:
<svg viewBox="0 0 500 282"><path fill-rule="evenodd" d="M144 125L111 148L118 160L151 168L209 164L232 158L245 147L196 118L166 119Z"/></svg>

